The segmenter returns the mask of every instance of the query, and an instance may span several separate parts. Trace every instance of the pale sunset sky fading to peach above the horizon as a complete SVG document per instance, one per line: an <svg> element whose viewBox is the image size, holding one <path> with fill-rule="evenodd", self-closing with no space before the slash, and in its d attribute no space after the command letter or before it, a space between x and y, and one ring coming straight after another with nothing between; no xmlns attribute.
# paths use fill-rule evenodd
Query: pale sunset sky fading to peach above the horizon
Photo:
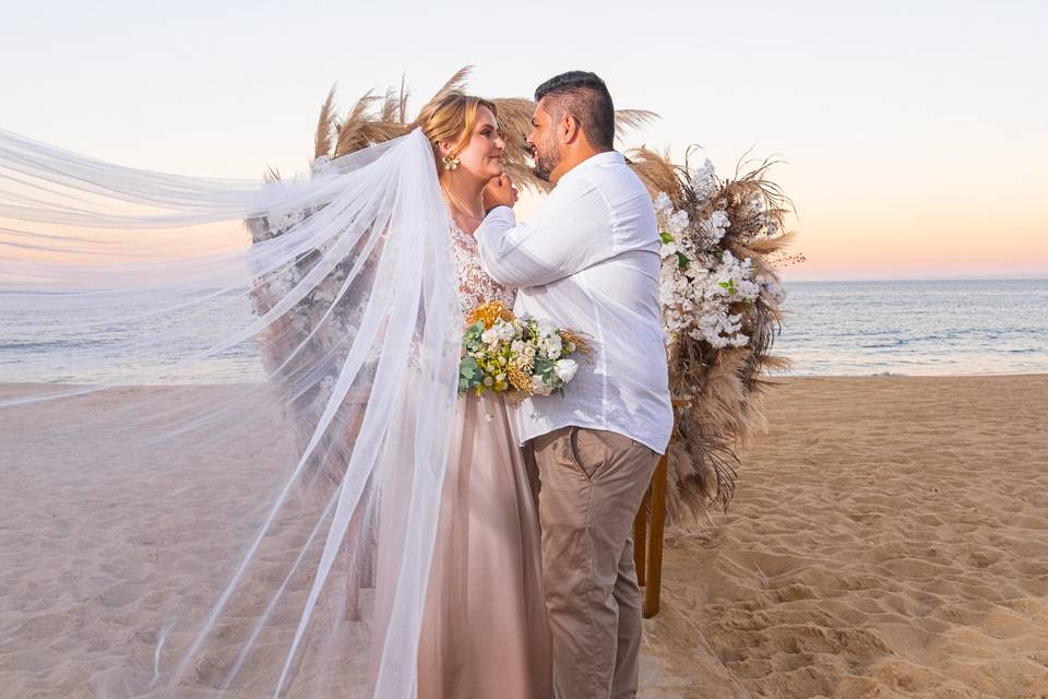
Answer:
<svg viewBox="0 0 1048 699"><path fill-rule="evenodd" d="M151 7L155 5L155 7ZM0 128L190 175L303 170L321 102L457 68L529 96L593 70L663 119L626 145L748 151L808 258L787 280L1048 276L1048 3L109 1L0 24Z"/></svg>

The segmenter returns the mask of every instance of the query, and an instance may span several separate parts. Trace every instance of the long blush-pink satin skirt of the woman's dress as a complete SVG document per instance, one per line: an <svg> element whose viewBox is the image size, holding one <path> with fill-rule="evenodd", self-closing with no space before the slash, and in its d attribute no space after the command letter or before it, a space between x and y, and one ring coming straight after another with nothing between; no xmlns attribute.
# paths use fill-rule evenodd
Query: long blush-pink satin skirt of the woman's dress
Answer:
<svg viewBox="0 0 1048 699"><path fill-rule="evenodd" d="M501 396L455 411L419 644L420 699L545 699L551 651L528 474Z"/></svg>

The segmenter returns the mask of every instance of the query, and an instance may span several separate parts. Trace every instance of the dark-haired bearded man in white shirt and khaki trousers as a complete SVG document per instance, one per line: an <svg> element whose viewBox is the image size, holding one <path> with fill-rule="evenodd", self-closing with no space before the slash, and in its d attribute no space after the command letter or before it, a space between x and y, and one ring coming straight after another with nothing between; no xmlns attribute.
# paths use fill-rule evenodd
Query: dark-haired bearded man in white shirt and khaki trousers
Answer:
<svg viewBox="0 0 1048 699"><path fill-rule="evenodd" d="M517 223L512 183L499 178L475 236L485 272L520 289L517 315L593 345L564 395L524 401L517 426L540 481L556 696L624 699L636 696L641 641L633 518L674 419L658 229L647 191L614 150L604 81L563 73L535 99L527 144L535 174L555 189Z"/></svg>

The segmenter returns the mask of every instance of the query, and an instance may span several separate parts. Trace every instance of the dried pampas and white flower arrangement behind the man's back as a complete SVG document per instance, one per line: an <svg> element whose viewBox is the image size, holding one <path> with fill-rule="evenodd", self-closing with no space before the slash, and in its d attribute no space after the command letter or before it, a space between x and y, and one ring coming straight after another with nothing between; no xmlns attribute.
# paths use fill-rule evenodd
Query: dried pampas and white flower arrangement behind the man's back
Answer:
<svg viewBox="0 0 1048 699"><path fill-rule="evenodd" d="M766 178L774 162L720 179L708 159L692 168L688 157L675 165L646 149L629 158L652 192L663 239L659 298L676 414L667 517L681 523L727 508L736 450L765 426L769 372L788 366L772 355L785 300L777 270L803 256L786 252L793 205Z"/></svg>

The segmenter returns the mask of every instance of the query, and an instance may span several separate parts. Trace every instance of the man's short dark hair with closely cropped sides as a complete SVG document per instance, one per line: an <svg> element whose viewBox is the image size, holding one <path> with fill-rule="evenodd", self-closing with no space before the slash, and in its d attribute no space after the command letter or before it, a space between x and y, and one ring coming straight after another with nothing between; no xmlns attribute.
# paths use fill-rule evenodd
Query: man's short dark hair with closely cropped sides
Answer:
<svg viewBox="0 0 1048 699"><path fill-rule="evenodd" d="M547 111L556 120L570 114L582 127L590 145L615 147L615 105L611 93L596 73L573 70L550 78L535 90L535 102L551 97Z"/></svg>

